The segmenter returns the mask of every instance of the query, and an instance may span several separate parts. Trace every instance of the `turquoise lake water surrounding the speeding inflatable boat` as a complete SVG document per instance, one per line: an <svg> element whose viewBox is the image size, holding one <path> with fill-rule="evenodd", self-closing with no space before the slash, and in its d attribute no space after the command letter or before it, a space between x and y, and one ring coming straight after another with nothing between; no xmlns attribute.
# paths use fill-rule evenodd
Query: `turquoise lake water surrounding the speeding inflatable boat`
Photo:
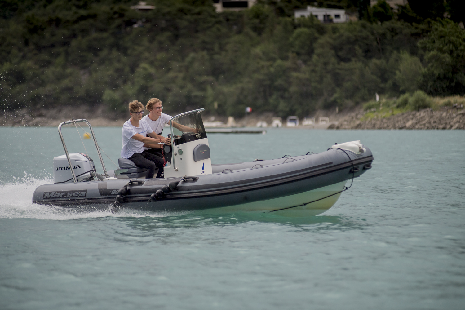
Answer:
<svg viewBox="0 0 465 310"><path fill-rule="evenodd" d="M94 130L117 162L121 129ZM70 152L85 152L76 129L64 135ZM57 129L0 128L0 309L465 308L465 131L208 139L216 164L352 140L375 161L312 218L84 212L31 203L64 153Z"/></svg>

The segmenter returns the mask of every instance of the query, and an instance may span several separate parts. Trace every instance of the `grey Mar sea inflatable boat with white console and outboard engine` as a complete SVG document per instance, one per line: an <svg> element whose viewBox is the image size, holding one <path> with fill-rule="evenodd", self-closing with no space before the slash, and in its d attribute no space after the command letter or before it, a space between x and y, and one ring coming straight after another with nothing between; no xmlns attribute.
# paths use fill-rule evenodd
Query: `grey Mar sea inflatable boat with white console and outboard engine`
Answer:
<svg viewBox="0 0 465 310"><path fill-rule="evenodd" d="M64 155L53 158L54 183L39 186L33 203L73 208L129 208L140 211L273 212L302 217L322 213L341 193L372 167L372 152L351 141L326 152L233 164L212 165L200 116L203 109L176 115L170 121L173 145L164 145L165 178L145 178L145 169L120 158L120 169L106 171L92 126L72 119L58 127ZM181 132L173 122L194 128ZM64 125L86 123L92 133L103 173L85 153L68 153ZM156 174L156 172L155 172ZM352 182L351 182L352 181ZM350 187L350 186L349 186Z"/></svg>

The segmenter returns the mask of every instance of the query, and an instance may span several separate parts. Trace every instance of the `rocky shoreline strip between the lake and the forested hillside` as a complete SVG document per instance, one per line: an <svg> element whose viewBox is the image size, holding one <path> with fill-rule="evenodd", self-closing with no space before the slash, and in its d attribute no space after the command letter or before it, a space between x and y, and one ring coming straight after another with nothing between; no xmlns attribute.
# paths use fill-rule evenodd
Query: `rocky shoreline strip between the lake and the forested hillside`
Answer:
<svg viewBox="0 0 465 310"><path fill-rule="evenodd" d="M108 117L106 117L108 116ZM111 117L113 116L113 117ZM27 109L3 112L0 116L0 126L48 126L57 127L62 121L75 118L85 118L93 127L121 127L128 118L117 118L111 112L107 112L104 106L98 107L61 107L52 110L40 110L31 112ZM298 126L307 129L465 129L465 109L442 107L440 110L424 109L420 111L403 112L389 117L374 117L365 119L365 111L361 107L336 111L319 110L313 115L316 120L320 116L329 117L326 125ZM204 116L205 120L212 117ZM227 119L216 117L215 120ZM237 119L239 126L255 127L258 121L266 121L271 124L272 113L249 115L247 118ZM283 119L285 123L285 119ZM296 128L296 127L293 127Z"/></svg>

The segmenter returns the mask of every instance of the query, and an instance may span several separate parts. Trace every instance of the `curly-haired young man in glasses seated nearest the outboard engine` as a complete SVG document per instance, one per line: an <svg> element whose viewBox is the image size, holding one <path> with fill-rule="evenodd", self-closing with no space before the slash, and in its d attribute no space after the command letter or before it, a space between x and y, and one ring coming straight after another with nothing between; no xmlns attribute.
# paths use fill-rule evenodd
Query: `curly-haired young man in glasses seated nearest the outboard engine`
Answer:
<svg viewBox="0 0 465 310"><path fill-rule="evenodd" d="M167 143L171 145L171 139L163 138L153 132L147 122L142 119L143 114L144 105L139 101L133 100L129 103L131 119L124 123L121 131L123 141L121 157L132 160L140 168L146 168L146 178L153 178L155 167L157 167L159 169L157 178L161 178L163 177L163 159L146 152L144 144Z"/></svg>

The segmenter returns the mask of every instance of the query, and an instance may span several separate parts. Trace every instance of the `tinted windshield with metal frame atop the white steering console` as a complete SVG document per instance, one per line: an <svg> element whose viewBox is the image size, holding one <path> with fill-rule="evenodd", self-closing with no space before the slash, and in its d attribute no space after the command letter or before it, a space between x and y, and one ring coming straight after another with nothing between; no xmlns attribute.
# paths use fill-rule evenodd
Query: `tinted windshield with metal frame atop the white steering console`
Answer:
<svg viewBox="0 0 465 310"><path fill-rule="evenodd" d="M205 127L199 112L173 119L171 130L174 145L206 138Z"/></svg>

